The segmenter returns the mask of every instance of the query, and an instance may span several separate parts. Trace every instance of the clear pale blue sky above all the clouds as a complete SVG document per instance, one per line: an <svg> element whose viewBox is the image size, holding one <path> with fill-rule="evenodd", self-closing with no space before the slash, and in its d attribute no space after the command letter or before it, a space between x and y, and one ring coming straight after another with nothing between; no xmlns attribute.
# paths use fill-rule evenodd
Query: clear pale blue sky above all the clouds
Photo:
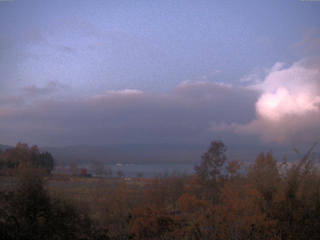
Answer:
<svg viewBox="0 0 320 240"><path fill-rule="evenodd" d="M317 3L0 2L1 38L9 42L1 81L10 78L16 90L56 80L81 94L169 91L203 77L236 84L256 68L301 58L293 44L319 26Z"/></svg>

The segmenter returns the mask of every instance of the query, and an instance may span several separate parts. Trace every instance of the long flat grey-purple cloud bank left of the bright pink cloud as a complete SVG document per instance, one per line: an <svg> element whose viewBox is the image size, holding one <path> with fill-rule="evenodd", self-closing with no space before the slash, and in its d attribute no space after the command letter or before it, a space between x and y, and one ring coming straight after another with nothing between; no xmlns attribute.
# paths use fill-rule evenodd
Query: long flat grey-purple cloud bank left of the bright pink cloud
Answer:
<svg viewBox="0 0 320 240"><path fill-rule="evenodd" d="M48 89L28 90L42 94ZM0 125L5 129L0 142L207 143L214 137L208 130L212 120L252 119L256 97L243 87L183 82L166 94L124 89L86 98L35 99L22 106L0 107Z"/></svg>

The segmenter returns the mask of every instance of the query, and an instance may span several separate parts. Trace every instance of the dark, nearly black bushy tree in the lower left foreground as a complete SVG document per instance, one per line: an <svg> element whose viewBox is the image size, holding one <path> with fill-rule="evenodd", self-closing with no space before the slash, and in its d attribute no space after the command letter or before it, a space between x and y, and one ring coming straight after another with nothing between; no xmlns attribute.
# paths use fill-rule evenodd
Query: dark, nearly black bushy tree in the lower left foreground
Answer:
<svg viewBox="0 0 320 240"><path fill-rule="evenodd" d="M20 178L8 205L26 239L90 239L91 220L72 201L51 196L36 168Z"/></svg>

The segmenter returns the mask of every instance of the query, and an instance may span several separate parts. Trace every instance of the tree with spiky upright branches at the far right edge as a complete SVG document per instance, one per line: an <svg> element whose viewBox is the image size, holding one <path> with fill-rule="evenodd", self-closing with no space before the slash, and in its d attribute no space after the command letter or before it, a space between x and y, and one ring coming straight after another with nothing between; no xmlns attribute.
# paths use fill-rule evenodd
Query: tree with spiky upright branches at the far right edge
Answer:
<svg viewBox="0 0 320 240"><path fill-rule="evenodd" d="M320 238L320 175L313 165L314 146L315 143L304 155L294 148L300 160L288 167L285 159L282 165L285 170L271 211L281 239Z"/></svg>

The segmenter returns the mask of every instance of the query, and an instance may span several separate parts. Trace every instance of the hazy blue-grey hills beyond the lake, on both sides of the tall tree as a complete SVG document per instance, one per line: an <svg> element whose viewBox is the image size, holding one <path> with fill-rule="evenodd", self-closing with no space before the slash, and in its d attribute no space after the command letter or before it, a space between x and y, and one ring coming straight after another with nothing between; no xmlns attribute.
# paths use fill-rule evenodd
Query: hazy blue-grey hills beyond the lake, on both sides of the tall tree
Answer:
<svg viewBox="0 0 320 240"><path fill-rule="evenodd" d="M118 145L73 145L66 147L39 147L40 151L49 151L57 162L77 160L90 163L93 160L108 164L153 164L153 163L192 163L200 162L201 155L208 144L118 144ZM288 160L296 160L297 154L291 146L266 146L262 144L228 144L227 159L253 161L259 152L272 149L277 160L286 155ZM307 149L302 149L302 153ZM319 152L318 150L316 150ZM316 159L319 158L317 153Z"/></svg>

